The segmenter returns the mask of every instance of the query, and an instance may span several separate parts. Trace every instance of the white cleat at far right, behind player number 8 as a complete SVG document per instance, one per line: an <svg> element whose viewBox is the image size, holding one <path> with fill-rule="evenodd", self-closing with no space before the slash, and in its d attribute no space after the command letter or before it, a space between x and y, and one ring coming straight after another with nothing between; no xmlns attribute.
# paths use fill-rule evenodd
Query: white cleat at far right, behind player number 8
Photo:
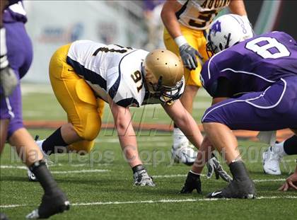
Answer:
<svg viewBox="0 0 297 220"><path fill-rule="evenodd" d="M262 158L264 173L270 175L281 175L281 168L279 167L281 156L274 152L272 146L269 146L269 148L263 152Z"/></svg>

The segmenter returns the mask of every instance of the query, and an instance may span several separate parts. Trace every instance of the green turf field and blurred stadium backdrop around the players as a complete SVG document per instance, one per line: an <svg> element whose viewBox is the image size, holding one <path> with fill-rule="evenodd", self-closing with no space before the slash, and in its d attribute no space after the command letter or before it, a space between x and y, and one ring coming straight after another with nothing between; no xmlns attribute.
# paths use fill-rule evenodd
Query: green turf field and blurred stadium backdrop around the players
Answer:
<svg viewBox="0 0 297 220"><path fill-rule="evenodd" d="M245 1L245 6L257 34L284 30L297 38L297 1L252 0ZM34 59L22 84L23 117L30 134L43 139L66 120L49 83L48 64L54 50L79 39L142 48L147 41L144 9L142 1L25 1L25 9ZM210 103L209 95L199 91L193 111L198 123ZM257 132L239 131L239 148L255 180L258 199L205 199L207 192L226 186L214 177L206 180L205 175L202 195L178 195L189 167L171 158L171 133L164 132L172 123L170 118L160 105L132 108L132 115L141 159L157 186L132 186L132 171L122 156L117 133L105 129L112 128L113 122L105 108L104 126L90 154L50 156L54 162L50 170L73 204L69 212L51 219L296 219L296 192L277 191L296 167L296 156L284 158L282 175L264 175L261 155L267 144L256 141ZM158 129L144 125L158 125ZM291 135L282 134L281 139ZM40 185L28 182L25 166L8 144L0 166L0 212L10 219L24 219L40 203Z"/></svg>

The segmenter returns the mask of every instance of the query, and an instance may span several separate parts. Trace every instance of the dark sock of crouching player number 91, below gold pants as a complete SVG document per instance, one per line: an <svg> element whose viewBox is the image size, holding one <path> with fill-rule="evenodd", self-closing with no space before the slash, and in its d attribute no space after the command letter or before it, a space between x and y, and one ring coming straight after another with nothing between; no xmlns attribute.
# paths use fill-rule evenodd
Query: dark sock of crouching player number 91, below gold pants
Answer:
<svg viewBox="0 0 297 220"><path fill-rule="evenodd" d="M45 141L42 143L42 151L44 151L46 154L54 154L54 147L55 146L68 146L64 139L62 138L61 134L61 127L57 129L54 133L50 135Z"/></svg>

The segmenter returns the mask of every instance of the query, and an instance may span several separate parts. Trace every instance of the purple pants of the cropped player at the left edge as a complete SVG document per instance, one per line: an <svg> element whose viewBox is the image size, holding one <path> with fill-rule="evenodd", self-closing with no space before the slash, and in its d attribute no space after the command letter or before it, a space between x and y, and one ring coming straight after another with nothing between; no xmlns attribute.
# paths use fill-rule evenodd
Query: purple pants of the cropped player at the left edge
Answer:
<svg viewBox="0 0 297 220"><path fill-rule="evenodd" d="M23 23L4 23L4 27L8 61L18 77L18 86L13 93L8 98L1 95L0 118L10 119L8 127L8 137L10 137L13 132L23 127L20 79L25 76L30 67L33 47Z"/></svg>

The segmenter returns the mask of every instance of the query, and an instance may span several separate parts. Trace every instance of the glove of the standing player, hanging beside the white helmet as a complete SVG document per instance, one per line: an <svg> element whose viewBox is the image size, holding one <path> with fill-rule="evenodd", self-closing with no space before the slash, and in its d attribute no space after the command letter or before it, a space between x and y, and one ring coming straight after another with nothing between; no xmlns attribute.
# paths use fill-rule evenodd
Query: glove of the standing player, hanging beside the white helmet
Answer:
<svg viewBox="0 0 297 220"><path fill-rule="evenodd" d="M199 59L203 59L203 57L199 54L197 50L191 47L189 44L185 43L180 46L180 57L182 57L183 64L187 67L187 69L194 70L197 68L197 57Z"/></svg>

